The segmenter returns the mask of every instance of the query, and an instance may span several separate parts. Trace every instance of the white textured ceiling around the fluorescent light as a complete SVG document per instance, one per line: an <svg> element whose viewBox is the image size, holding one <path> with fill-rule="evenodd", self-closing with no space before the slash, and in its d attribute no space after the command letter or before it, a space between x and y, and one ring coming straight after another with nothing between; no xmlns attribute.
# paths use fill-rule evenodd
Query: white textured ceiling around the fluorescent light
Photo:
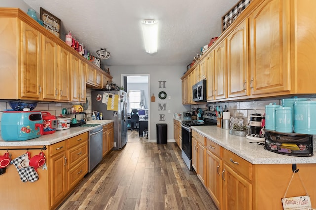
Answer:
<svg viewBox="0 0 316 210"><path fill-rule="evenodd" d="M92 55L106 48L113 65L188 65L221 34L221 17L239 0L23 0L62 21ZM140 22L158 21L158 52L145 53Z"/></svg>

